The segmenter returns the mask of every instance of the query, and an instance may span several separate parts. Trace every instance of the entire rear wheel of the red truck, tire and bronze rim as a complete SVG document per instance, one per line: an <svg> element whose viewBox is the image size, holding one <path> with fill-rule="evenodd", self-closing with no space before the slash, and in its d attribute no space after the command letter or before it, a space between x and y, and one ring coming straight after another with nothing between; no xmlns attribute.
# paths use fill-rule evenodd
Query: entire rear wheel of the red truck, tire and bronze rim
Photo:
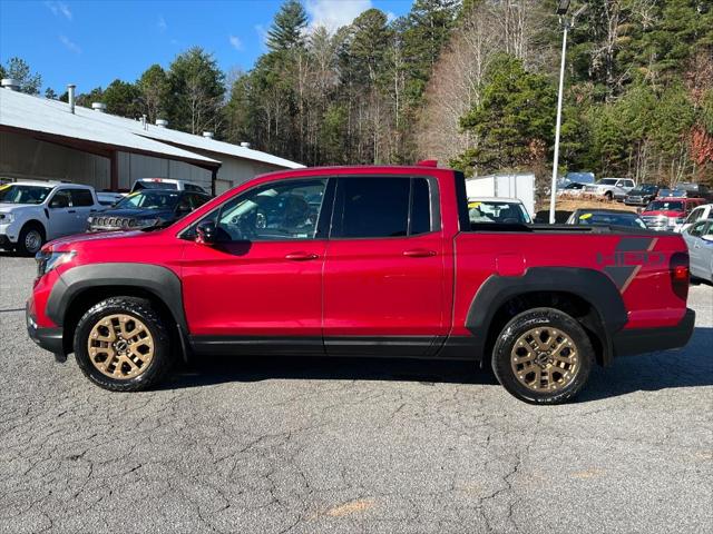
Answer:
<svg viewBox="0 0 713 534"><path fill-rule="evenodd" d="M492 352L492 370L514 396L533 404L560 404L586 384L594 349L579 323L554 308L515 316Z"/></svg>

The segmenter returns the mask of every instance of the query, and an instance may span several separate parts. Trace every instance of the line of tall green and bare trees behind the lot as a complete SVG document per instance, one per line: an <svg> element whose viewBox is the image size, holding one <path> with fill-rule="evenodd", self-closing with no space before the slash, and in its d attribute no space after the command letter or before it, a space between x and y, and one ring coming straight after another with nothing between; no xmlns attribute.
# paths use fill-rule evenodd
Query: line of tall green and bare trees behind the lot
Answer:
<svg viewBox="0 0 713 534"><path fill-rule="evenodd" d="M572 3L559 170L713 181L713 2ZM369 9L330 32L286 0L247 72L223 72L194 47L77 100L310 166L433 158L468 175L530 170L544 180L561 42L555 7L414 0L403 17ZM6 73L39 93L21 59Z"/></svg>

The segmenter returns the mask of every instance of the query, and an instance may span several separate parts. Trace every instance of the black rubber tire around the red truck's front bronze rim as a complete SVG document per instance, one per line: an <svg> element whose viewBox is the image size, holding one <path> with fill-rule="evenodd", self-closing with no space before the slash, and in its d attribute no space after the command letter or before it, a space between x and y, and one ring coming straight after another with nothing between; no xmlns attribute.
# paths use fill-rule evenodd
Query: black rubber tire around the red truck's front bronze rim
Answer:
<svg viewBox="0 0 713 534"><path fill-rule="evenodd" d="M124 378L107 376L91 360L88 347L89 336L102 318L113 315L138 319L152 337L153 357L137 376ZM169 339L164 322L149 300L136 297L110 297L94 305L79 319L74 339L75 356L81 372L99 387L111 392L138 392L160 383L170 369L173 358Z"/></svg>

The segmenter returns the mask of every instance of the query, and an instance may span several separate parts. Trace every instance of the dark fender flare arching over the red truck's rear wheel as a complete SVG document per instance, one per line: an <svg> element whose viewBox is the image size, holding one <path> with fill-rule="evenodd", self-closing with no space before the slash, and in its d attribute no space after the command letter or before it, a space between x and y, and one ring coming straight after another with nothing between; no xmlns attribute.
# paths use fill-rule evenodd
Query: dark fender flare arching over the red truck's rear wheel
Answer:
<svg viewBox="0 0 713 534"><path fill-rule="evenodd" d="M604 337L603 363L612 360L612 336L628 320L622 294L604 273L582 267L530 267L522 276L490 276L477 290L468 309L466 328L479 339L484 354L496 312L508 300L528 293L557 291L576 295L598 315Z"/></svg>

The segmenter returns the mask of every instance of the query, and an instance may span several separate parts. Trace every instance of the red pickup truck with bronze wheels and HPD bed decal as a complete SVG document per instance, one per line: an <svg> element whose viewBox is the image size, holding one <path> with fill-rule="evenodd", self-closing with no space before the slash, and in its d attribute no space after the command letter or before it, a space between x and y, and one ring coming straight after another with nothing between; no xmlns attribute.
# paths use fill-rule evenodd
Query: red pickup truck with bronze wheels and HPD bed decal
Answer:
<svg viewBox="0 0 713 534"><path fill-rule="evenodd" d="M676 234L471 222L453 170L306 168L164 229L46 245L27 327L111 390L206 354L401 356L491 365L555 404L595 363L685 345L687 290Z"/></svg>

